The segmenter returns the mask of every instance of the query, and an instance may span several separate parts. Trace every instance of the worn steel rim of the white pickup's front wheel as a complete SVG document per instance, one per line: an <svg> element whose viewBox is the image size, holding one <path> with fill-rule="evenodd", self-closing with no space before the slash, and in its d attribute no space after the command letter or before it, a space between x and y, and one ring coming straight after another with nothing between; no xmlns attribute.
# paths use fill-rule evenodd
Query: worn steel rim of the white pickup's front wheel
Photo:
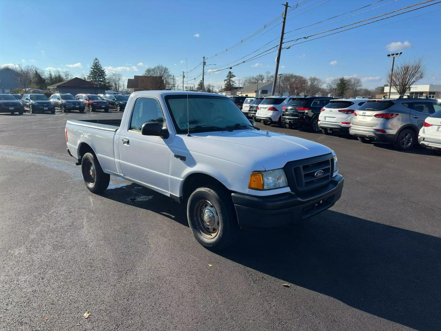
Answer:
<svg viewBox="0 0 441 331"><path fill-rule="evenodd" d="M219 215L213 203L199 200L195 207L198 232L206 239L213 239L219 233Z"/></svg>

